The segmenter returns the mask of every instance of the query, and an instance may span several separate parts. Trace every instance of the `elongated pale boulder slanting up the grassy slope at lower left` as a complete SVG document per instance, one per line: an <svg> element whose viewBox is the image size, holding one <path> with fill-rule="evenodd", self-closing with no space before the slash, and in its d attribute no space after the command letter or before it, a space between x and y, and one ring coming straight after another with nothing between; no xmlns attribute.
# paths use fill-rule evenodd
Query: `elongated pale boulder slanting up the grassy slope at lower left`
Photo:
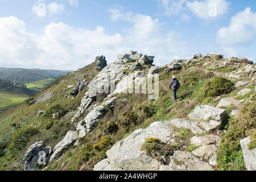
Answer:
<svg viewBox="0 0 256 182"><path fill-rule="evenodd" d="M53 148L53 154L51 155L51 158L49 161L54 160L56 158L59 158L59 156L68 148L68 146L71 146L79 135L76 131L68 131L68 133L65 135L65 137Z"/></svg>

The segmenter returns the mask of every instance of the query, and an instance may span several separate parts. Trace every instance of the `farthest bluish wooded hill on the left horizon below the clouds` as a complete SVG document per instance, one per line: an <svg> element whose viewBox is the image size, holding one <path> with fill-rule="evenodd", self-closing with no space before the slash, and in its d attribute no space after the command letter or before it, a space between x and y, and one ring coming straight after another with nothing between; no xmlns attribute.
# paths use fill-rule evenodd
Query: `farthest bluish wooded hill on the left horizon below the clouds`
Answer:
<svg viewBox="0 0 256 182"><path fill-rule="evenodd" d="M0 79L11 82L30 83L47 78L55 78L67 75L72 71L60 71L51 69L24 69L24 68L0 68Z"/></svg>

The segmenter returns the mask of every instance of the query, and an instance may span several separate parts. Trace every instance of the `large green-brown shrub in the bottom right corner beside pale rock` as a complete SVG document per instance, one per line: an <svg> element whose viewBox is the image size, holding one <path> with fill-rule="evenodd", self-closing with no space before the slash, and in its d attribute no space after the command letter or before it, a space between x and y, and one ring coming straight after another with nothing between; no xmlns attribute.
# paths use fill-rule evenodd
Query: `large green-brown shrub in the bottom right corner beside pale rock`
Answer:
<svg viewBox="0 0 256 182"><path fill-rule="evenodd" d="M217 152L220 170L245 170L240 140L252 136L255 141L256 101L246 102L240 109L238 118L230 119L227 133L222 137ZM250 146L253 143L250 143Z"/></svg>

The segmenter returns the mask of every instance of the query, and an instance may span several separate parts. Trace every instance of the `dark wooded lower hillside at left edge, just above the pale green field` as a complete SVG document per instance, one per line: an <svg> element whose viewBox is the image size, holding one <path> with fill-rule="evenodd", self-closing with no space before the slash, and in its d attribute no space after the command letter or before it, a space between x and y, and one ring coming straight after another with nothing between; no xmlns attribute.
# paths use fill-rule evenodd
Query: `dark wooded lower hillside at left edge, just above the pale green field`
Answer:
<svg viewBox="0 0 256 182"><path fill-rule="evenodd" d="M9 80L1 80L0 79L0 92L15 94L19 96L35 96L35 94L39 93L35 90L27 89L21 86L15 86L13 82Z"/></svg>

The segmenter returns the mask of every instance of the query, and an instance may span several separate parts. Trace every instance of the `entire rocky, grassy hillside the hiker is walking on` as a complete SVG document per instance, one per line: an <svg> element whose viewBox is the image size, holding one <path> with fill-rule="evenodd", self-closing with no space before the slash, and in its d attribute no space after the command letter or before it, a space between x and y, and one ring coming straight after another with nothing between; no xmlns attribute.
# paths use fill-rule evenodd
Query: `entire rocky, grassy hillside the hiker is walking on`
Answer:
<svg viewBox="0 0 256 182"><path fill-rule="evenodd" d="M153 62L134 51L109 65L98 56L0 113L0 169L255 169L255 65L216 53ZM134 93L147 73L153 92ZM177 102L168 89L173 75ZM47 164L36 164L39 151Z"/></svg>

